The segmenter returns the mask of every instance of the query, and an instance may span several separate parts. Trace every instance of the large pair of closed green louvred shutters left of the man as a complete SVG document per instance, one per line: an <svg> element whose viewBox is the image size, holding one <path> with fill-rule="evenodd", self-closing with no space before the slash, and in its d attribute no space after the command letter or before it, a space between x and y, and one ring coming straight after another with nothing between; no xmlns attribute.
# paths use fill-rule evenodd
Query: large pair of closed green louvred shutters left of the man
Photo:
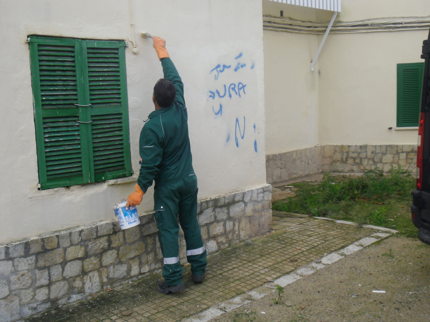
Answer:
<svg viewBox="0 0 430 322"><path fill-rule="evenodd" d="M40 188L132 175L125 43L29 40Z"/></svg>

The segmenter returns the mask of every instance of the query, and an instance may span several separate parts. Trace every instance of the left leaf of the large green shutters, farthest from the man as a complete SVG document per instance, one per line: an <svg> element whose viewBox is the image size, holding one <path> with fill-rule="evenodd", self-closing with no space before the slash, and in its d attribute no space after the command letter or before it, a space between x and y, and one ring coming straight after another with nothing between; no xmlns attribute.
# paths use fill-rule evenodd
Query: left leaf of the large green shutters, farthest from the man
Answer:
<svg viewBox="0 0 430 322"><path fill-rule="evenodd" d="M83 183L74 39L31 37L40 188Z"/></svg>

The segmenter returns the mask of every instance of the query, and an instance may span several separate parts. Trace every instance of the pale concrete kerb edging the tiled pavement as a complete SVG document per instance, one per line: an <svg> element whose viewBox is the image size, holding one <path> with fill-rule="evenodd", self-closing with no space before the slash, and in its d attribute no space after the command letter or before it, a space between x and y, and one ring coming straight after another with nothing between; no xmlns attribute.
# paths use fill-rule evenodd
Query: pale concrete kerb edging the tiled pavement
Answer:
<svg viewBox="0 0 430 322"><path fill-rule="evenodd" d="M328 219L324 217L314 217L317 219L326 219L326 220L332 220L339 224L344 225L358 225L354 222L346 222L343 220L334 220L334 219ZM375 232L371 235L364 237L360 240L357 240L356 242L344 247L343 249L340 249L336 252L332 252L330 254L324 255L319 260L316 260L310 264L303 265L301 267L298 267L297 269L293 270L291 273L288 273L284 276L281 276L277 279L275 279L272 283L266 283L263 286L259 286L255 289L252 289L249 292L246 292L245 294L239 295L235 298L232 298L230 300L223 301L219 304L213 305L209 309L200 312L194 316L190 316L189 318L182 319L181 322L207 322L211 319L214 319L218 316L221 316L225 313L228 313L232 310L235 310L239 307L242 307L248 303L250 303L253 300L258 300L260 298L263 298L266 295L269 295L271 293L276 292L276 285L279 285L281 287L285 287L289 284L292 284L299 279L303 278L304 276L309 276L316 271L335 263L336 261L339 261L340 259L344 258L347 255L351 255L355 252L358 252L359 250L372 245L373 243L383 240L387 237L390 237L392 234L397 233L394 229L384 228L384 227L378 227L373 225L363 225L363 227L366 228L372 228L378 231L386 231L386 233L381 232Z"/></svg>

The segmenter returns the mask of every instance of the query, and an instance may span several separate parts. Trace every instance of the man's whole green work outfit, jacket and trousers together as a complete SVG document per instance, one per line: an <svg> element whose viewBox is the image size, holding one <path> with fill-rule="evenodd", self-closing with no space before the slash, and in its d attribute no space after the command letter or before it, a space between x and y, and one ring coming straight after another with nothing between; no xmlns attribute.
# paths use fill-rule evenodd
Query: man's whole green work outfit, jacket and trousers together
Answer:
<svg viewBox="0 0 430 322"><path fill-rule="evenodd" d="M206 249L197 221L197 177L188 137L184 84L170 58L161 58L164 78L176 88L172 106L151 112L140 133L139 187L146 193L155 181L154 217L164 257L163 277L168 286L182 283L179 262L178 217L187 244L193 275L205 272Z"/></svg>

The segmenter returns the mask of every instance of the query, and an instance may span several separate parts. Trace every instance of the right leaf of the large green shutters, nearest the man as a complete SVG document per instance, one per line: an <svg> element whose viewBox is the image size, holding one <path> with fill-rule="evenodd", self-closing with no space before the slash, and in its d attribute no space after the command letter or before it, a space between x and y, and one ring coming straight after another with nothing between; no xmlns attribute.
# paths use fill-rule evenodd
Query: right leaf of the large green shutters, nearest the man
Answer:
<svg viewBox="0 0 430 322"><path fill-rule="evenodd" d="M132 175L124 46L86 42L95 181Z"/></svg>

